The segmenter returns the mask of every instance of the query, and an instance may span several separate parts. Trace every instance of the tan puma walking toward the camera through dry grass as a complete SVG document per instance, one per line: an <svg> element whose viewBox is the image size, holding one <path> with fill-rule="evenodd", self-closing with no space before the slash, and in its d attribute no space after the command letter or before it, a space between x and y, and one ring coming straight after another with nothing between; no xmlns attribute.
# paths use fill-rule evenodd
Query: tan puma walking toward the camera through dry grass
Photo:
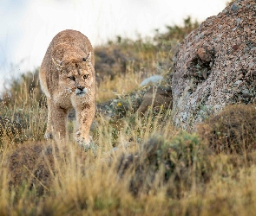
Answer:
<svg viewBox="0 0 256 216"><path fill-rule="evenodd" d="M86 59L87 58L87 59ZM48 123L45 137L66 137L67 113L74 107L76 140L89 143L95 117L95 60L89 39L75 30L58 33L43 58L39 78L47 96Z"/></svg>

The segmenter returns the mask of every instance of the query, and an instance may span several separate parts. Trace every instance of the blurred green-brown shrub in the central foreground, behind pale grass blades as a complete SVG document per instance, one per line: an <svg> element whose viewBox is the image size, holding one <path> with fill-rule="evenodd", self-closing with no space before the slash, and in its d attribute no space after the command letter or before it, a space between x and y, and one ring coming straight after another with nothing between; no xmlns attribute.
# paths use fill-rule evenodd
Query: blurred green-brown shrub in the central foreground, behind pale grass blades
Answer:
<svg viewBox="0 0 256 216"><path fill-rule="evenodd" d="M211 171L208 156L209 151L195 134L181 132L170 140L154 135L138 152L122 155L117 170L130 178L132 194L148 194L155 185L164 184L168 196L179 198L184 188L207 182Z"/></svg>

